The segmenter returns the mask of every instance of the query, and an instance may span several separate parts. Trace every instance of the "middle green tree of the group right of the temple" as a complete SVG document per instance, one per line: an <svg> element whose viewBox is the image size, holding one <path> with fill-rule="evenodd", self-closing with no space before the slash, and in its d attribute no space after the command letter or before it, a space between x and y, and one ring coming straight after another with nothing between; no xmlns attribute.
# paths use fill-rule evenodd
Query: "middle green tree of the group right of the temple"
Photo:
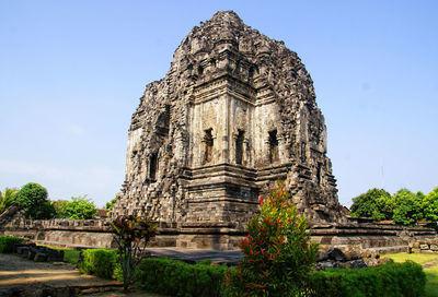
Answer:
<svg viewBox="0 0 438 297"><path fill-rule="evenodd" d="M410 190L402 189L393 197L395 206L393 219L396 224L413 225L423 218L422 201Z"/></svg>

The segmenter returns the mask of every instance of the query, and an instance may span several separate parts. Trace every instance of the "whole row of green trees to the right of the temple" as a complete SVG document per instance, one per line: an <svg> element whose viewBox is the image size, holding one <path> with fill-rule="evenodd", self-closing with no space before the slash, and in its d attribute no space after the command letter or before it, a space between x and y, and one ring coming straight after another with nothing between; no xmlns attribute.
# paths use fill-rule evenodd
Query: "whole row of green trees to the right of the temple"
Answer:
<svg viewBox="0 0 438 297"><path fill-rule="evenodd" d="M353 199L350 214L403 225L414 225L418 221L435 223L438 221L438 187L427 195L407 189L391 195L374 188Z"/></svg>

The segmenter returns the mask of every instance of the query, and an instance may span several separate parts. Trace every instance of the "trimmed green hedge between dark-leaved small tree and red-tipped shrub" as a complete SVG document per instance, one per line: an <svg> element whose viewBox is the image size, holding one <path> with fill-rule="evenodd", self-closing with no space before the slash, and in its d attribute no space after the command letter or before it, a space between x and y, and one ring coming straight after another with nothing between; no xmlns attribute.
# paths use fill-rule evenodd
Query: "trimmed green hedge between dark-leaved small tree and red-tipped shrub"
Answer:
<svg viewBox="0 0 438 297"><path fill-rule="evenodd" d="M166 258L143 259L135 274L135 285L169 296L222 296L227 268L206 262L187 264Z"/></svg>

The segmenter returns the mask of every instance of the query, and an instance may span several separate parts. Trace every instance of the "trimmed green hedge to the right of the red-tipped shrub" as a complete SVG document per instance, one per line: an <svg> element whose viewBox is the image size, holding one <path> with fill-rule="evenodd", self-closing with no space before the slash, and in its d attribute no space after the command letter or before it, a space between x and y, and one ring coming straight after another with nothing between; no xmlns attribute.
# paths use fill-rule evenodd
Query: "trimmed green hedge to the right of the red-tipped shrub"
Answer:
<svg viewBox="0 0 438 297"><path fill-rule="evenodd" d="M303 296L416 297L423 296L426 275L419 264L389 262L377 268L332 269L311 273Z"/></svg>

